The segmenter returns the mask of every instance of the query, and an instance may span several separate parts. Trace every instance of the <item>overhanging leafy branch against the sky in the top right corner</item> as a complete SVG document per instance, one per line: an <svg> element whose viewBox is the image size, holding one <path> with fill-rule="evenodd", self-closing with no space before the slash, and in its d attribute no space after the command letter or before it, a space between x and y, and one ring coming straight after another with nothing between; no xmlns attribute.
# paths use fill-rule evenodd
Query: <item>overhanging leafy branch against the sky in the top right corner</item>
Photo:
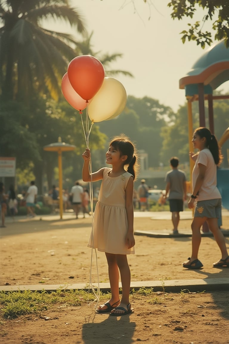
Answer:
<svg viewBox="0 0 229 344"><path fill-rule="evenodd" d="M193 19L198 6L205 12L201 24L199 21L188 24L189 29L181 32L183 43L186 40L192 40L196 41L197 45L201 45L202 48L205 47L205 44L210 45L212 33L203 31L203 27L205 22L212 21L217 15L217 20L212 23L212 29L216 31L214 39L218 41L225 39L225 44L229 47L229 0L172 0L168 6L172 8L171 17L178 20L185 17Z"/></svg>

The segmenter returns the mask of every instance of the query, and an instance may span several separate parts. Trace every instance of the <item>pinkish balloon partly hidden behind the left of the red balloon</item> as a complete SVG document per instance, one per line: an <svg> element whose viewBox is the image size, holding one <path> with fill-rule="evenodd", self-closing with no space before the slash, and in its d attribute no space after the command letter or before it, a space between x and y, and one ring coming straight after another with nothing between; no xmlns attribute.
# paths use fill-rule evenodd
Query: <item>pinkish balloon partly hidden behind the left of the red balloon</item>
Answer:
<svg viewBox="0 0 229 344"><path fill-rule="evenodd" d="M61 89L65 99L74 109L81 111L87 107L86 100L81 98L70 84L68 73L62 78Z"/></svg>

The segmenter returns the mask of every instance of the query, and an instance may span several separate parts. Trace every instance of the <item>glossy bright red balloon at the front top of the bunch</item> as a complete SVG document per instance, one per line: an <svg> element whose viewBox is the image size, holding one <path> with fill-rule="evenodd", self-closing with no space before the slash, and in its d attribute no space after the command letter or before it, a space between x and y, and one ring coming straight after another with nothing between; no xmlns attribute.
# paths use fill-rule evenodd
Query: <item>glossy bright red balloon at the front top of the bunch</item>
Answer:
<svg viewBox="0 0 229 344"><path fill-rule="evenodd" d="M102 63L93 56L77 56L68 65L69 81L80 97L85 100L94 97L102 86L104 77Z"/></svg>

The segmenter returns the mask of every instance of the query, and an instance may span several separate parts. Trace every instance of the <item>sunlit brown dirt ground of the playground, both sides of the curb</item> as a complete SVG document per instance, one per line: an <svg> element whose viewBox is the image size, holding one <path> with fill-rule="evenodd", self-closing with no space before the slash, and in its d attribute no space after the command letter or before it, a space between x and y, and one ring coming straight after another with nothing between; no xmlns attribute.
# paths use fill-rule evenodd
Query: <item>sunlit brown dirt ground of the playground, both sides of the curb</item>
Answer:
<svg viewBox="0 0 229 344"><path fill-rule="evenodd" d="M135 218L135 230L171 229L170 220ZM190 228L181 220L180 228ZM223 218L229 229L229 216ZM48 220L43 217L7 223L1 230L0 285L89 283L91 249L87 247L91 218ZM191 237L135 236L135 255L128 256L132 281L229 278L229 269L214 269L220 251L211 237L203 237L199 259L204 268L186 270ZM229 249L229 238L226 238ZM108 282L105 255L98 252L100 282ZM71 278L69 278L71 277ZM73 277L73 278L72 278ZM92 282L97 282L93 254ZM2 344L105 343L229 343L229 290L200 293L131 295L134 313L113 317L95 314L95 304L53 307L39 315L1 320ZM100 303L106 301L100 300ZM44 315L51 318L45 321Z"/></svg>

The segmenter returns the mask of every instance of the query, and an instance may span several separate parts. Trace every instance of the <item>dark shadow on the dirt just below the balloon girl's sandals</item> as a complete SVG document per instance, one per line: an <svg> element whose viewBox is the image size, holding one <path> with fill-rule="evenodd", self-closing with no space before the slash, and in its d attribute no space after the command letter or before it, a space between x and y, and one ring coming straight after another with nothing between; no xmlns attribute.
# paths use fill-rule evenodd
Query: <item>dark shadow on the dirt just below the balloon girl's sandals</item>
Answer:
<svg viewBox="0 0 229 344"><path fill-rule="evenodd" d="M131 344L134 342L133 334L136 323L130 322L130 314L123 316L109 316L108 314L95 314L89 317L82 326L82 339L85 344ZM106 317L105 320L104 317Z"/></svg>

